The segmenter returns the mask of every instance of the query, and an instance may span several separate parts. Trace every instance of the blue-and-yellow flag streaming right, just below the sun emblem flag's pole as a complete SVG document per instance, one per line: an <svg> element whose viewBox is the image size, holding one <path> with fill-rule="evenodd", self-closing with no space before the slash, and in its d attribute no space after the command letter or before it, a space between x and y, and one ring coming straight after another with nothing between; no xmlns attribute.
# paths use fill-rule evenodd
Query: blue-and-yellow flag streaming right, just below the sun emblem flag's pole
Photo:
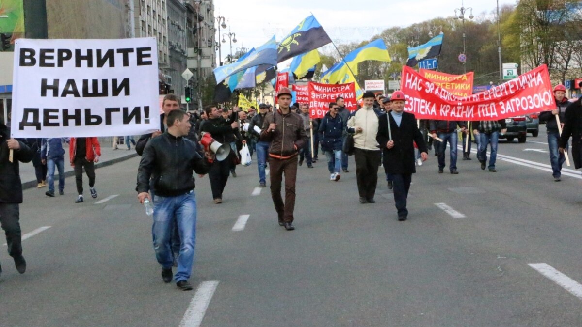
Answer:
<svg viewBox="0 0 582 327"><path fill-rule="evenodd" d="M345 83L341 80L345 79L347 73L351 74L349 68L352 69L353 74L357 75L358 64L367 60L383 62L392 61L390 55L388 54L388 49L386 49L386 45L381 38L374 40L364 45L363 47L357 48L347 54L345 57L345 62L341 61L336 63L327 72L322 74L323 79L330 84Z"/></svg>

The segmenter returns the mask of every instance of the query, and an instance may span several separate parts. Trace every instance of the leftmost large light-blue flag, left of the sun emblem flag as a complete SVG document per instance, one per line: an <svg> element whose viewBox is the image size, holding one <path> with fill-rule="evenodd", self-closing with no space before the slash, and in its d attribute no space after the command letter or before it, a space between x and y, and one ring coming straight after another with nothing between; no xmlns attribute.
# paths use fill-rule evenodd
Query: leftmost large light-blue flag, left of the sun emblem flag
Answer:
<svg viewBox="0 0 582 327"><path fill-rule="evenodd" d="M277 43L275 35L267 43L261 45L254 51L249 51L249 55L242 60L230 63L229 65L214 69L214 77L218 83L242 70L258 65L277 65Z"/></svg>

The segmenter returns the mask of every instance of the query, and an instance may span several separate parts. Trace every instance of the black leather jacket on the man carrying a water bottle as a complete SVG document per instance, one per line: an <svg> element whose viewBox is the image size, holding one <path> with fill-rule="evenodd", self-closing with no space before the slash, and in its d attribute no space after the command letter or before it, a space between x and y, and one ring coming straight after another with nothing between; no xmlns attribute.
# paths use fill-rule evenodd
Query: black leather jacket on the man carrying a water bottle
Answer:
<svg viewBox="0 0 582 327"><path fill-rule="evenodd" d="M151 176L156 196L179 196L196 186L192 170L205 174L208 168L207 159L200 157L192 141L166 132L145 145L137 170L136 190L149 191Z"/></svg>

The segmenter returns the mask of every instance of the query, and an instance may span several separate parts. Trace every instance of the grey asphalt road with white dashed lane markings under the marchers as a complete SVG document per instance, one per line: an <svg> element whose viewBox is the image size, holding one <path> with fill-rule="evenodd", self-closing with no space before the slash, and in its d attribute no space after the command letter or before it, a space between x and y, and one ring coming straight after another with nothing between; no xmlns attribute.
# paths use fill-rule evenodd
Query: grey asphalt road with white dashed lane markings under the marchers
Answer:
<svg viewBox="0 0 582 327"><path fill-rule="evenodd" d="M431 153L406 222L382 169L377 202L359 204L353 158L339 182L324 155L299 168L293 232L255 190L255 163L221 205L197 179L191 292L159 276L139 158L98 169L99 196L83 204L74 177L65 196L26 190L23 233L38 233L23 241L23 275L0 251L0 326L581 326L580 170L553 182L545 141L542 126L502 142L496 173L459 159L459 175L437 174Z"/></svg>

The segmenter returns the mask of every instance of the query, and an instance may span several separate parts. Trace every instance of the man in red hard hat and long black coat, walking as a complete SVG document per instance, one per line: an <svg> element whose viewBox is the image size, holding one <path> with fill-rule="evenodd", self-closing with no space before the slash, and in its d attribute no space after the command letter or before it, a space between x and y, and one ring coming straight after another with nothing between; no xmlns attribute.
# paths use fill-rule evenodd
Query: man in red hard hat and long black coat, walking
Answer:
<svg viewBox="0 0 582 327"><path fill-rule="evenodd" d="M404 93L396 91L392 94L392 112L378 118L378 134L376 140L384 151L384 167L392 175L394 186L394 201L398 210L398 220L408 218L406 198L410 189L412 174L416 173L414 166L414 142L421 152L423 161L427 161L427 144L423 134L418 130L416 118L411 113L404 112ZM388 125L388 120L390 125Z"/></svg>

